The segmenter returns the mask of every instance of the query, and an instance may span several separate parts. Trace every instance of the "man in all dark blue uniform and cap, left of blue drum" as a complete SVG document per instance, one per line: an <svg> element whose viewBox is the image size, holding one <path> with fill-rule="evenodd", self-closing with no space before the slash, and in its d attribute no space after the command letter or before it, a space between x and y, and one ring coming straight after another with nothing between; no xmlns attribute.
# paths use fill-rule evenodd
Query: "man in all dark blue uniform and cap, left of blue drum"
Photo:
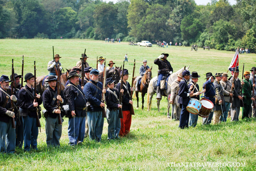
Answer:
<svg viewBox="0 0 256 171"><path fill-rule="evenodd" d="M178 100L178 103L180 103L181 112L180 112L180 125L179 127L181 129L184 129L185 127L188 127L188 120L189 120L189 112L187 111L188 101L190 99L190 96L193 95L193 91L188 88L188 80L190 78L190 72L188 70L184 70L182 72L182 80L180 81L180 90L178 95L180 96L180 99Z"/></svg>

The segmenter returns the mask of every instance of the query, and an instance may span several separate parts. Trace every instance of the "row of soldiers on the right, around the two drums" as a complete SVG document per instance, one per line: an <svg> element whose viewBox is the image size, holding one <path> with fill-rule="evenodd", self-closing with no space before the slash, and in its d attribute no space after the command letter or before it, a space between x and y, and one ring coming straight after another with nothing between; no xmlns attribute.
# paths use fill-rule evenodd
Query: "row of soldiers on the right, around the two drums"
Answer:
<svg viewBox="0 0 256 171"><path fill-rule="evenodd" d="M179 127L181 129L188 126L195 127L198 120L198 115L189 113L186 108L190 98L199 100L200 94L204 93L203 98L210 100L214 104L214 108L210 112L208 117L203 118L203 124L210 124L226 122L228 117L228 111L231 113L231 121L238 121L241 100L243 100L242 119L255 117L256 108L253 107L253 101L255 100L255 74L256 68L252 67L249 71L244 72L244 80L240 81L238 78L239 70L237 69L234 76L228 80L227 73L216 73L214 76L211 72L206 73L206 82L203 84L203 91L199 91L199 86L196 83L200 75L197 72L190 72L184 70L182 73L177 74L178 78L172 82L170 103L173 105L173 117L176 120L180 120ZM188 81L190 80L190 83ZM233 79L234 83L232 85ZM254 79L254 80L253 80ZM252 84L254 83L254 84ZM242 93L241 91L242 87ZM231 88L233 92L231 93ZM254 87L254 97L253 97ZM230 98L232 97L232 98ZM232 103L230 101L232 99ZM231 108L230 108L231 107Z"/></svg>

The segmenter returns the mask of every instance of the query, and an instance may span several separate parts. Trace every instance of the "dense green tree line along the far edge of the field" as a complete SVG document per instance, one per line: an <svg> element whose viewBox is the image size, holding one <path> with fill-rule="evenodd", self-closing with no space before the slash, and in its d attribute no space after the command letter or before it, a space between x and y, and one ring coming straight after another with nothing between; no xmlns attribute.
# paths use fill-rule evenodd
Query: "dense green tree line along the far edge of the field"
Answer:
<svg viewBox="0 0 256 171"><path fill-rule="evenodd" d="M255 52L256 1L0 0L0 38L159 40Z"/></svg>

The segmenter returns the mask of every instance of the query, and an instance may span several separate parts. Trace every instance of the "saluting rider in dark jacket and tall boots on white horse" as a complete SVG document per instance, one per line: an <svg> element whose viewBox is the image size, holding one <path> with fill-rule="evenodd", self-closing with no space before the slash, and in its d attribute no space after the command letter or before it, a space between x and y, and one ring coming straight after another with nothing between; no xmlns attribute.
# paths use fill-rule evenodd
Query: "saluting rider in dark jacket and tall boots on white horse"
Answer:
<svg viewBox="0 0 256 171"><path fill-rule="evenodd" d="M169 54L162 53L160 56L158 56L154 63L158 65L158 78L157 78L157 85L156 85L156 99L160 100L162 99L161 93L160 93L160 81L163 79L163 77L166 77L169 74L172 74L173 69L172 65L169 61L166 60L166 58L169 56Z"/></svg>

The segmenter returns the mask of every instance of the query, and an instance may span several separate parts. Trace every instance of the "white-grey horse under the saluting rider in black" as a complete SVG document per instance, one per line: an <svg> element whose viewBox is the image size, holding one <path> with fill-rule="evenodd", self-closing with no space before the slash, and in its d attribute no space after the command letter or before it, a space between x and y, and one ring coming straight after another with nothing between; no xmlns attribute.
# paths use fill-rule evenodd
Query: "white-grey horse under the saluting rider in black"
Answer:
<svg viewBox="0 0 256 171"><path fill-rule="evenodd" d="M189 66L188 66L188 68L189 68ZM164 95L165 96L169 96L169 94L171 93L171 84L172 84L172 82L175 80L175 79L177 79L177 74L178 73L181 73L181 72L183 72L184 70L188 70L188 68L186 68L186 66L185 67L183 67L183 68L181 68L179 71L177 71L177 72L174 72L174 73L172 73L172 75L170 75L170 77L169 77L169 79L168 79L168 82L167 82L167 89L166 90L164 90ZM156 93L156 90L154 90L154 87L153 87L153 83L155 82L157 80L157 76L156 77L154 77L154 78L152 78L151 80L150 80L150 82L149 82L149 85L148 85L148 111L149 111L149 109L151 108L151 101L152 101L152 97L153 97L153 95ZM162 90L163 91L163 90ZM161 99L160 100L157 100L157 110L158 110L158 112L160 112L160 108L159 108L159 105L160 105L160 101L161 101ZM169 103L169 100L167 100L167 108L168 108L168 112L167 112L167 117L168 118L170 118L170 115L169 115L169 109L170 109L170 103Z"/></svg>

